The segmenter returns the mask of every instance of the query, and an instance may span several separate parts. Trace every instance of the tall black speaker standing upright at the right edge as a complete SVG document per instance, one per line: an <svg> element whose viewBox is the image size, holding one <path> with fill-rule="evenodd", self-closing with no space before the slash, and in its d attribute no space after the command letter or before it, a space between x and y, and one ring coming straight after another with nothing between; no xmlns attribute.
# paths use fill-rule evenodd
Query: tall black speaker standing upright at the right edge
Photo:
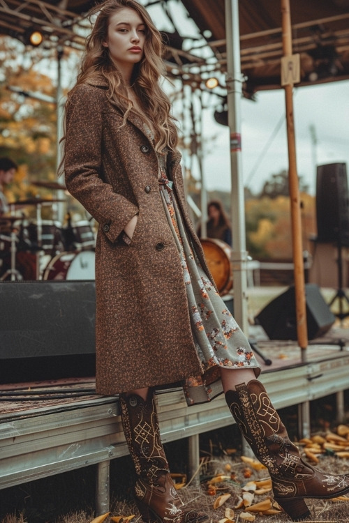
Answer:
<svg viewBox="0 0 349 523"><path fill-rule="evenodd" d="M345 163L318 165L316 173L318 241L349 244L349 198Z"/></svg>

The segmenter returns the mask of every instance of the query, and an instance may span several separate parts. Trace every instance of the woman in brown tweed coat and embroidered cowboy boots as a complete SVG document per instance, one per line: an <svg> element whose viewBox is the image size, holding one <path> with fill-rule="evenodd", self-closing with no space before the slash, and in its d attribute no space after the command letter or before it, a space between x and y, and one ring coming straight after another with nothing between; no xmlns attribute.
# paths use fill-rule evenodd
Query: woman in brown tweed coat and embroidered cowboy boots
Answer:
<svg viewBox="0 0 349 523"><path fill-rule="evenodd" d="M186 209L177 130L159 80L161 36L135 0L107 0L66 105L66 185L99 224L96 391L119 393L144 522L205 522L174 490L154 387L183 381L188 404L222 390L291 517L304 497L349 490L302 462L260 368L209 274Z"/></svg>

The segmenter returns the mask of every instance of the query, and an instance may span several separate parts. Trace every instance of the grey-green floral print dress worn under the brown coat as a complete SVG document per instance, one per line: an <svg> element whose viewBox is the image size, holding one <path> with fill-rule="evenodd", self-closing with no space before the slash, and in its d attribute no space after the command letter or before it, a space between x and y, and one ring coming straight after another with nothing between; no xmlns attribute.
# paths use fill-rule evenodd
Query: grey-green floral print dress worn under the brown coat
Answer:
<svg viewBox="0 0 349 523"><path fill-rule="evenodd" d="M204 369L202 376L184 382L188 405L207 402L223 392L220 367L236 370L253 368L260 374L260 365L244 333L230 314L223 299L200 266L191 248L181 213L166 174L166 155L158 155L159 187L170 228L177 243L186 296L191 316L195 347Z"/></svg>

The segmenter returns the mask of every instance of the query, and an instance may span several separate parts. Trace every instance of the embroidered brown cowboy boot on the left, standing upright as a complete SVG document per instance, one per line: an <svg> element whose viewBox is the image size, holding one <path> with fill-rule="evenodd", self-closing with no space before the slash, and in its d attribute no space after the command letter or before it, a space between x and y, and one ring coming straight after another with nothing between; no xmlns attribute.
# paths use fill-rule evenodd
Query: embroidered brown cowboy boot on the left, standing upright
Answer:
<svg viewBox="0 0 349 523"><path fill-rule="evenodd" d="M209 517L184 510L161 444L154 391L147 401L138 395L120 395L121 421L138 480L135 501L145 523L204 523Z"/></svg>

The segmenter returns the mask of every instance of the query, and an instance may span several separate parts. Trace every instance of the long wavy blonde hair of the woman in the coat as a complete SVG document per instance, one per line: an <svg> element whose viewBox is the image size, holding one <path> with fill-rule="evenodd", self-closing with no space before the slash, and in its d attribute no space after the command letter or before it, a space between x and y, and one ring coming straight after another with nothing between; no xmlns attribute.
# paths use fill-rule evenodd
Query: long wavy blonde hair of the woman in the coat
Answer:
<svg viewBox="0 0 349 523"><path fill-rule="evenodd" d="M126 84L117 66L110 59L109 50L103 45L107 40L110 17L122 8L134 9L146 26L144 55L133 68L131 84L142 103L143 112L135 107L128 98ZM150 123L154 131L156 146L159 153L164 148L174 150L178 142L177 127L171 115L171 104L168 96L161 89L160 79L164 75L163 42L161 33L147 13L147 10L135 0L107 0L89 11L89 17L97 15L91 34L86 40L85 52L82 57L80 72L75 86L89 82L96 77L104 77L108 84L107 98L110 103L124 111L124 124L130 111ZM72 93L70 91L70 93ZM70 104L70 93L66 108ZM123 125L124 125L123 124Z"/></svg>

